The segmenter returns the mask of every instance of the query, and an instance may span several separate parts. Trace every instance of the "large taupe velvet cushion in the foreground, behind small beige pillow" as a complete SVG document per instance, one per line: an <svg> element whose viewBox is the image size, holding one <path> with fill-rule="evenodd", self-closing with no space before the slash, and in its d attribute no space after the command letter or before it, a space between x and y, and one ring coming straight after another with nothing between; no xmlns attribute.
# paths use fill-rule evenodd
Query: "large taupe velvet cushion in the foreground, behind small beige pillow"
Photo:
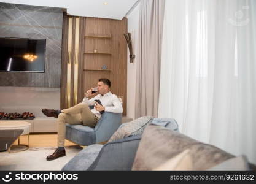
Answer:
<svg viewBox="0 0 256 184"><path fill-rule="evenodd" d="M203 144L169 128L149 125L142 134L132 169L155 169L186 149L190 149L193 170L209 169L233 157L217 147Z"/></svg>

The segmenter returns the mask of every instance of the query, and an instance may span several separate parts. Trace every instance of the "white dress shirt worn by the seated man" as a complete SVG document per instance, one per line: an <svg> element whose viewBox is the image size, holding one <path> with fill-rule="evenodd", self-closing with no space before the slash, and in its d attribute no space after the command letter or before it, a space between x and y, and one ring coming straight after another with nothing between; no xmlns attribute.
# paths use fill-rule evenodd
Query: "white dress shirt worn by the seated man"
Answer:
<svg viewBox="0 0 256 184"><path fill-rule="evenodd" d="M113 112L113 113L123 113L122 103L119 101L115 94L111 92L104 94L98 94L97 96L91 98L90 100L85 97L83 98L82 103L87 103L88 105L95 105L95 99L99 99L101 104L105 107L105 112ZM101 117L101 113L95 109L91 109L91 112L98 118Z"/></svg>

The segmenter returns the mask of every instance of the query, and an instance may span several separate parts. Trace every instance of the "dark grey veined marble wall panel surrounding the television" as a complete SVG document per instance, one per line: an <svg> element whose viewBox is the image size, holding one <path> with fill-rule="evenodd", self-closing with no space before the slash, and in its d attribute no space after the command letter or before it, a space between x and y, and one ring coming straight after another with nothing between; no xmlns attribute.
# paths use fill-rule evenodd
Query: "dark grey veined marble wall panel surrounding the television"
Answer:
<svg viewBox="0 0 256 184"><path fill-rule="evenodd" d="M63 10L0 3L0 17L0 37L46 39L45 73L0 72L0 86L60 88Z"/></svg>

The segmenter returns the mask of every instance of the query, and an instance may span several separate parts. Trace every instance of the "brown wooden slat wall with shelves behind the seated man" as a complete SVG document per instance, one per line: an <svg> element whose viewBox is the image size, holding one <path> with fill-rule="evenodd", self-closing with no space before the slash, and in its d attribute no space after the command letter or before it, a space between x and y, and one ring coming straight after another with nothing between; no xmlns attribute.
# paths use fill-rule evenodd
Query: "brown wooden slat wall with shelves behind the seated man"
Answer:
<svg viewBox="0 0 256 184"><path fill-rule="evenodd" d="M63 17L63 52L61 64L61 109L67 107L66 71L68 61L68 17ZM111 80L111 92L123 99L123 115L126 115L126 85L127 85L127 45L123 33L127 32L127 20L111 20L106 18L79 17L79 75L78 102L82 102L85 92L96 86L99 78ZM75 17L73 30L75 33ZM85 37L85 36L110 36ZM71 106L74 104L74 34L72 37L72 72L71 72ZM93 54L94 50L98 53ZM92 52L92 53L85 53ZM111 71L93 71L84 69L101 69L103 64Z"/></svg>

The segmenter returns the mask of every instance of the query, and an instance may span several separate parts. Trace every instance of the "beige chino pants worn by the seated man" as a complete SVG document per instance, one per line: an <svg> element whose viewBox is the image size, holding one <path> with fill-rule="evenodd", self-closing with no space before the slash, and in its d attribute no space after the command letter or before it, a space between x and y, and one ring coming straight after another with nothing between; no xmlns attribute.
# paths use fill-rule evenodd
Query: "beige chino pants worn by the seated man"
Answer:
<svg viewBox="0 0 256 184"><path fill-rule="evenodd" d="M74 107L61 110L58 116L58 147L64 147L66 123L94 128L97 122L98 118L91 112L88 104L80 103Z"/></svg>

